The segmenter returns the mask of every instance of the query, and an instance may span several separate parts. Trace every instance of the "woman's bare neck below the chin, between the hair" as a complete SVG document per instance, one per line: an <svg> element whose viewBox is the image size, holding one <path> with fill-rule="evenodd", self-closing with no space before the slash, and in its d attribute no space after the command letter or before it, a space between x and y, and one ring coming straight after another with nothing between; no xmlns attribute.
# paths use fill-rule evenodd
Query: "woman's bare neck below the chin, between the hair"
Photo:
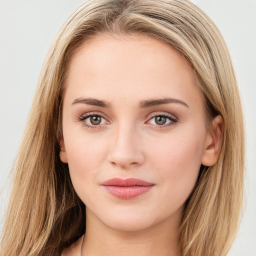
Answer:
<svg viewBox="0 0 256 256"><path fill-rule="evenodd" d="M112 229L99 221L90 211L86 213L86 220L81 256L179 255L180 217L174 222L173 218L166 219L139 231Z"/></svg>

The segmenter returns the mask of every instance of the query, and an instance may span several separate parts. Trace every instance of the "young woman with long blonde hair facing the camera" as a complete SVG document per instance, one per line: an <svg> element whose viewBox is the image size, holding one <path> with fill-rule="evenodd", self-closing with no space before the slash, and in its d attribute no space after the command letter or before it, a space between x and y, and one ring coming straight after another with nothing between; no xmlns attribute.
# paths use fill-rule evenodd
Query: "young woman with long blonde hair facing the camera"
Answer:
<svg viewBox="0 0 256 256"><path fill-rule="evenodd" d="M44 62L1 255L226 255L243 144L231 60L200 9L87 1Z"/></svg>

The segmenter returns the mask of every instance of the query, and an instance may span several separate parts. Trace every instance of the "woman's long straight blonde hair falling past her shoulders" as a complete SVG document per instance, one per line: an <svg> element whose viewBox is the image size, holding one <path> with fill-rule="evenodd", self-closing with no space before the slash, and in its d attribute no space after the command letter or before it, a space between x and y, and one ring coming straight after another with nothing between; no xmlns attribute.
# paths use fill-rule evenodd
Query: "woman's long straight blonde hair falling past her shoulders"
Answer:
<svg viewBox="0 0 256 256"><path fill-rule="evenodd" d="M185 256L226 255L241 214L243 117L223 38L210 18L188 0L88 0L61 27L44 61L13 165L0 255L59 255L85 232L85 206L58 156L61 100L72 53L82 41L104 32L141 33L174 46L198 77L206 121L222 116L219 159L213 166L202 166L186 202L180 251Z"/></svg>

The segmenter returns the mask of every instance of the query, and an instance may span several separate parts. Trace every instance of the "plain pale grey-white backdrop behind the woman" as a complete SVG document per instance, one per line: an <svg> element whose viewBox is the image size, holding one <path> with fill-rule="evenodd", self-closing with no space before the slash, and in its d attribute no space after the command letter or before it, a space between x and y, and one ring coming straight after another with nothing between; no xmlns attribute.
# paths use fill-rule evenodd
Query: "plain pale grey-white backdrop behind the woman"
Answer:
<svg viewBox="0 0 256 256"><path fill-rule="evenodd" d="M65 19L84 0L0 0L0 230L17 151L39 71ZM246 128L244 214L230 256L256 255L256 0L193 0L229 48Z"/></svg>

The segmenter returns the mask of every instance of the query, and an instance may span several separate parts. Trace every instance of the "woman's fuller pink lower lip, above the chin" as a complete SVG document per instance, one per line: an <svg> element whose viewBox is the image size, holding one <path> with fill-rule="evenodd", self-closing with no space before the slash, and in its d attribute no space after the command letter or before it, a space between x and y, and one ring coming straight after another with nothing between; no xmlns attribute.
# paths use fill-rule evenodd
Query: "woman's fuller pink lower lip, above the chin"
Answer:
<svg viewBox="0 0 256 256"><path fill-rule="evenodd" d="M154 185L149 186L108 186L104 185L104 188L113 196L120 199L131 199L140 194L146 193L152 189Z"/></svg>

